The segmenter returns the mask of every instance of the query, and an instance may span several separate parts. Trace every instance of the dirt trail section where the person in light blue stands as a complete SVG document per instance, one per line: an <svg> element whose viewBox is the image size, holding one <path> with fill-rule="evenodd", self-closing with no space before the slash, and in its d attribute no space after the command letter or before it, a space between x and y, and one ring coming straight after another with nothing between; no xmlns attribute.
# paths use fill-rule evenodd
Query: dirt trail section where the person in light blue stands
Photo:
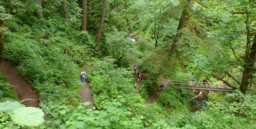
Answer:
<svg viewBox="0 0 256 129"><path fill-rule="evenodd" d="M90 67L88 67L88 68L86 68L84 71L85 72L89 72L89 69L91 69L91 68L94 68L95 66L94 65L92 65L92 66L90 66ZM80 78L80 77L79 77ZM80 78L80 81L81 81L81 78ZM82 81L81 81L82 82ZM92 109L92 107L93 107L93 105L94 105L94 102L93 102L93 100L92 100L92 95L91 95L91 86L90 86L90 83L87 81L87 80L85 80L85 85L84 85L84 87L86 88L86 89L84 89L84 87L83 86L80 86L80 90L79 90L79 95L80 95L80 100L81 100L81 103L84 103L84 102L91 102L91 104L89 104L89 105L86 105L85 107L87 107L87 108L89 108L89 109ZM83 105L84 106L84 105Z"/></svg>

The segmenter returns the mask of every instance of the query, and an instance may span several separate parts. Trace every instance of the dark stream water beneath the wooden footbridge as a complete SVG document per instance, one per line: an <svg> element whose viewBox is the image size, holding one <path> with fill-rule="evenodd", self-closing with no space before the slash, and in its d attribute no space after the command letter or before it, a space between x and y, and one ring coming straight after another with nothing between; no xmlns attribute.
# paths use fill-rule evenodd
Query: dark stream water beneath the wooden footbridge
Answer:
<svg viewBox="0 0 256 129"><path fill-rule="evenodd" d="M199 92L195 92L193 94L193 96L191 96L191 98L197 96L199 94ZM196 97L193 100L190 100L189 103L189 111L190 112L195 112L195 111L199 111L200 109L205 109L206 108L206 104L205 101L208 101L208 97L205 96L205 94L202 94L202 99L200 99L199 97Z"/></svg>

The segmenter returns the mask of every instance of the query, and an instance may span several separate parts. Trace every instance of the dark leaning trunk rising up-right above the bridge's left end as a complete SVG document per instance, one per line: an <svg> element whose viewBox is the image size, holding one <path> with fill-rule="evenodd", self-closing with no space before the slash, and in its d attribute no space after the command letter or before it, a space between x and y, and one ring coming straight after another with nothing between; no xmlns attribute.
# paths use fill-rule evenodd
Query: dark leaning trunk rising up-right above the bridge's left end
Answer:
<svg viewBox="0 0 256 129"><path fill-rule="evenodd" d="M178 46L178 43L179 43L179 40L180 40L180 34L181 34L180 31L182 30L182 26L183 26L184 20L186 18L186 13L188 11L187 8L188 8L188 6L191 2L191 0L187 0L187 1L188 1L188 3L185 5L185 8L183 9L183 11L181 13L179 25L178 25L178 28L177 28L177 32L176 32L175 38L174 38L173 43L172 43L172 47L171 47L172 54L175 52L176 47Z"/></svg>

